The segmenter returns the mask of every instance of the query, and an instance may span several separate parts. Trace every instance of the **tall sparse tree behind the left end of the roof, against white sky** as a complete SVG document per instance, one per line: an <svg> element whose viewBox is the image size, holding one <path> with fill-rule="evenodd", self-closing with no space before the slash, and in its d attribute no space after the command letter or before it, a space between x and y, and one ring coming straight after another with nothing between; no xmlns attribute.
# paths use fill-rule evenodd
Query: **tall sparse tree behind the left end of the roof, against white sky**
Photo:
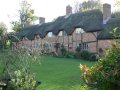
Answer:
<svg viewBox="0 0 120 90"><path fill-rule="evenodd" d="M37 16L34 15L34 10L31 9L31 4L27 2L27 0L23 0L20 3L20 9L18 10L19 21L13 21L11 24L12 29L15 31L19 31L21 28L27 27L35 20L37 20Z"/></svg>

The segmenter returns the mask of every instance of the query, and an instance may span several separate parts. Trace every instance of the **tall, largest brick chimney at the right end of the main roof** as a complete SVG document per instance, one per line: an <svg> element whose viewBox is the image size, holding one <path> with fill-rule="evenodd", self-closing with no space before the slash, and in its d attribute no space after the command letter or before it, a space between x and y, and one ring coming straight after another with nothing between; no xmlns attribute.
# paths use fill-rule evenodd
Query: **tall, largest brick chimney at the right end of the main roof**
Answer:
<svg viewBox="0 0 120 90"><path fill-rule="evenodd" d="M111 18L111 5L103 4L103 20L108 20Z"/></svg>

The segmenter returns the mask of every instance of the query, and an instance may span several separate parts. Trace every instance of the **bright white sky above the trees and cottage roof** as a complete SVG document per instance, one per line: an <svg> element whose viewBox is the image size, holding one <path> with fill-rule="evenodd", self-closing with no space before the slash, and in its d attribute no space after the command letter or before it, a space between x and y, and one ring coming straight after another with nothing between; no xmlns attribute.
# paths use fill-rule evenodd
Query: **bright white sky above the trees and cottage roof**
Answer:
<svg viewBox="0 0 120 90"><path fill-rule="evenodd" d="M10 29L10 22L18 20L19 3L22 0L0 0L0 22L4 22ZM38 17L45 17L46 22L50 22L58 16L65 15L67 5L74 7L75 2L84 0L27 0ZM101 0L102 3L112 5L114 0ZM38 22L37 22L38 23Z"/></svg>

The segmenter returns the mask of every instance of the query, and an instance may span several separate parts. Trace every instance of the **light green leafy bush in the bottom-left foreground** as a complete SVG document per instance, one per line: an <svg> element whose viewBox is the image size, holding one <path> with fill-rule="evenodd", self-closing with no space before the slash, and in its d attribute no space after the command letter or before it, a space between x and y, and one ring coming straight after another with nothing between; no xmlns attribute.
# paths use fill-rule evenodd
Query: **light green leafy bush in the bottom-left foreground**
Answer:
<svg viewBox="0 0 120 90"><path fill-rule="evenodd" d="M34 74L29 74L25 69L17 70L9 84L9 90L33 90L37 86Z"/></svg>

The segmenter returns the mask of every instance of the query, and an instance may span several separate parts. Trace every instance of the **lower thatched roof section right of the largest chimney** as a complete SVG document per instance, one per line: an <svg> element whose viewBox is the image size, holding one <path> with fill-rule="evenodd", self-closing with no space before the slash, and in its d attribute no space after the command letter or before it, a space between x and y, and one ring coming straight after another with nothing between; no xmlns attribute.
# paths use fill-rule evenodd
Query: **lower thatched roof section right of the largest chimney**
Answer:
<svg viewBox="0 0 120 90"><path fill-rule="evenodd" d="M100 31L98 35L98 39L113 39L115 38L112 32L115 28L118 28L117 32L120 33L120 19L119 18L111 18L105 25L104 29ZM120 37L120 36L119 36Z"/></svg>

